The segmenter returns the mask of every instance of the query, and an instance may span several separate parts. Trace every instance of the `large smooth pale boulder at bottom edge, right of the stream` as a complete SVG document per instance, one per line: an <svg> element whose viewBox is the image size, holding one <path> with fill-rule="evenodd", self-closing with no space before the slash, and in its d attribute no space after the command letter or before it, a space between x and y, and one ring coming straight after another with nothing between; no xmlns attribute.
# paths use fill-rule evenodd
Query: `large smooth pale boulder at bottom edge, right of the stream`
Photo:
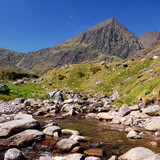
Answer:
<svg viewBox="0 0 160 160"><path fill-rule="evenodd" d="M152 152L150 149L144 148L144 147L136 147L122 156L120 156L119 160L146 160L147 158L152 157L155 155L154 152Z"/></svg>

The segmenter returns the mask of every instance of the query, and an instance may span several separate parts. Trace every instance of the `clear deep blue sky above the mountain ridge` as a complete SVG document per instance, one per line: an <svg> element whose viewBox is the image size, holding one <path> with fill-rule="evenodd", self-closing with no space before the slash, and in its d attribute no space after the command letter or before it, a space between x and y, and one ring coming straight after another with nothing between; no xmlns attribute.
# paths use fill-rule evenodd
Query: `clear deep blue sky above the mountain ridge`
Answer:
<svg viewBox="0 0 160 160"><path fill-rule="evenodd" d="M160 0L0 0L0 46L51 47L110 17L137 36L160 31Z"/></svg>

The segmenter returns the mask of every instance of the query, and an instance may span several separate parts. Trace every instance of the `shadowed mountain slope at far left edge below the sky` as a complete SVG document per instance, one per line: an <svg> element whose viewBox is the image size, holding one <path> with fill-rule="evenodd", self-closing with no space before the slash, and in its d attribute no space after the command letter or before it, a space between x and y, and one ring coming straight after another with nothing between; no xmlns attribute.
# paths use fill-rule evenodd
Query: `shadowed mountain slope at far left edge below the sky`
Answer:
<svg viewBox="0 0 160 160"><path fill-rule="evenodd" d="M15 52L0 47L0 69L5 70L18 70L15 66L22 60L24 53Z"/></svg>

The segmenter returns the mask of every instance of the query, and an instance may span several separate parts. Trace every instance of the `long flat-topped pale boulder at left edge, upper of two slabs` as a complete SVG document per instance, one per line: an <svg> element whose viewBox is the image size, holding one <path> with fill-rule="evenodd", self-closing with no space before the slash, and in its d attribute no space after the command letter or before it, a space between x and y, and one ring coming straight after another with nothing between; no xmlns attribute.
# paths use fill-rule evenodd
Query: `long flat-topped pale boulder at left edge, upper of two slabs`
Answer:
<svg viewBox="0 0 160 160"><path fill-rule="evenodd" d="M37 128L38 126L38 121L33 118L25 118L0 123L0 137L10 136L26 129Z"/></svg>

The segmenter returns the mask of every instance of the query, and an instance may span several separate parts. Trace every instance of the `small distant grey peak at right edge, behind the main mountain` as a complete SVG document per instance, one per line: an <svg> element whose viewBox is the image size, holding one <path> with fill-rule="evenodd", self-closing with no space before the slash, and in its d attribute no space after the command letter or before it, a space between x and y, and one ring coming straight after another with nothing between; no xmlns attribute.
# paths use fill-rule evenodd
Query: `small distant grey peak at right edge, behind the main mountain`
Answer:
<svg viewBox="0 0 160 160"><path fill-rule="evenodd" d="M151 31L140 36L140 40L145 48L150 47L153 43L160 40L160 32Z"/></svg>

